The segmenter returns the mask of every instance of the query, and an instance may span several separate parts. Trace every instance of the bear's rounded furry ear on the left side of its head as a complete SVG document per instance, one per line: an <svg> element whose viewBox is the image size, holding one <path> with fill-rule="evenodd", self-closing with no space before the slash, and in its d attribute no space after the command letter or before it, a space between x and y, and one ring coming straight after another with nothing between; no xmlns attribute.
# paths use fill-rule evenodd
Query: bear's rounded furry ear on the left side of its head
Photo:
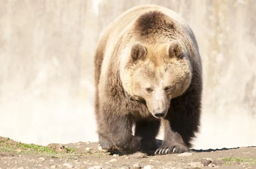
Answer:
<svg viewBox="0 0 256 169"><path fill-rule="evenodd" d="M140 42L134 42L131 46L131 58L133 61L138 59L145 59L147 54L147 49L145 46Z"/></svg>

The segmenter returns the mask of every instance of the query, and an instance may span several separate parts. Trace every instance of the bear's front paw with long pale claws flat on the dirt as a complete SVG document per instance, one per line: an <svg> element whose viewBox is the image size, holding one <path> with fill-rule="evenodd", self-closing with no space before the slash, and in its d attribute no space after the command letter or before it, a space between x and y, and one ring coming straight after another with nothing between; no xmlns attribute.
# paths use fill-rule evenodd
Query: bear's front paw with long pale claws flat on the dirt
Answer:
<svg viewBox="0 0 256 169"><path fill-rule="evenodd" d="M173 154L173 153L183 153L183 152L189 152L190 150L183 145L163 145L160 146L154 153L154 155L164 155L164 154Z"/></svg>

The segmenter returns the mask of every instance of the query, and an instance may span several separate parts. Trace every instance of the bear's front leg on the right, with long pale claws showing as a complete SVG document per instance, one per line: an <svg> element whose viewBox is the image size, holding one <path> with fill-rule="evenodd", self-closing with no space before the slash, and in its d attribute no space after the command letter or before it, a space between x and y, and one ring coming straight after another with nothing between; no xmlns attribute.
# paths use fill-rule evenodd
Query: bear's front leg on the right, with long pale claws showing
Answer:
<svg viewBox="0 0 256 169"><path fill-rule="evenodd" d="M200 117L201 90L190 89L171 100L169 112L162 119L164 140L155 155L189 152L191 141L199 131Z"/></svg>

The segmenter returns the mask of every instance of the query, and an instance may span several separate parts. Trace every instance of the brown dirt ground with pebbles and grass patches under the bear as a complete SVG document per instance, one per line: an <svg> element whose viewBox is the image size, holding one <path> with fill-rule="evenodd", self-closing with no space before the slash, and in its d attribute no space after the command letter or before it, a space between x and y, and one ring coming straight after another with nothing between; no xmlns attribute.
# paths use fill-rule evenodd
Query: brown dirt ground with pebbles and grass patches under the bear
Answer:
<svg viewBox="0 0 256 169"><path fill-rule="evenodd" d="M161 141L159 144L161 144ZM103 152L98 143L40 146L0 137L0 169L256 169L256 147L147 156Z"/></svg>

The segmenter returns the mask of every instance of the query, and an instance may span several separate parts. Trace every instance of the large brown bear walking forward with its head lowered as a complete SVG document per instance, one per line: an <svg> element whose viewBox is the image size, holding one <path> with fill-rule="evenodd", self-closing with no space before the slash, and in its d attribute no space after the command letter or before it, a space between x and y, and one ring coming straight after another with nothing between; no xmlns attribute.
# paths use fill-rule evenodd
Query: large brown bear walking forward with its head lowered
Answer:
<svg viewBox="0 0 256 169"><path fill-rule="evenodd" d="M157 5L125 11L100 35L94 59L102 149L190 151L200 129L202 67L192 29L177 13Z"/></svg>

